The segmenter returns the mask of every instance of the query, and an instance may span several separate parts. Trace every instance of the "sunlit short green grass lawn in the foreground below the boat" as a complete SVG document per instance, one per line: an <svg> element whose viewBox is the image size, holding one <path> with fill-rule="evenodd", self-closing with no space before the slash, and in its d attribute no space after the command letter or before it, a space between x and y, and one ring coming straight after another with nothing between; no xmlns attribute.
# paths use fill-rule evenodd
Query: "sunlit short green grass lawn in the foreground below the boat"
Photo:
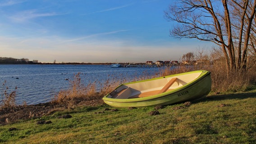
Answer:
<svg viewBox="0 0 256 144"><path fill-rule="evenodd" d="M224 107L221 107L221 104ZM183 107L174 110L173 108ZM79 107L0 126L3 144L252 144L256 141L256 90L211 95L185 106ZM58 118L70 114L72 118ZM52 121L38 125L37 121ZM16 128L17 130L9 130Z"/></svg>

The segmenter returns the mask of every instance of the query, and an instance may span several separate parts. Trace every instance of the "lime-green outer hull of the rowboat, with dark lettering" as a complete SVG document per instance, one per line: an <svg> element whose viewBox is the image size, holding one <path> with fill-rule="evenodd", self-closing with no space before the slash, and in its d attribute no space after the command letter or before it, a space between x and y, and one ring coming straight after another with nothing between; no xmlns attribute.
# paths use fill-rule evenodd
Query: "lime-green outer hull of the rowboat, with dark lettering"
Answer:
<svg viewBox="0 0 256 144"><path fill-rule="evenodd" d="M198 71L197 71L198 72ZM188 72L191 73L191 72ZM179 75L184 75L182 73ZM200 77L195 81L183 85L180 88L174 89L170 92L164 92L161 94L152 95L146 98L135 98L135 99L113 99L108 98L109 94L106 95L103 100L106 104L114 107L146 107L155 105L169 105L173 103L180 103L190 100L199 99L209 94L211 89L211 78L210 72L202 71Z"/></svg>

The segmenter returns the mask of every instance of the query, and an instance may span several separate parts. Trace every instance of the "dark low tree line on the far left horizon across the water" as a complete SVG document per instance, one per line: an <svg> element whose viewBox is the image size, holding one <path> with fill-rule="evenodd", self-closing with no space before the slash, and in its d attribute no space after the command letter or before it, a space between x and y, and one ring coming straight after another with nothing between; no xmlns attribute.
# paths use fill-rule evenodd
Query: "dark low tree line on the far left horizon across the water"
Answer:
<svg viewBox="0 0 256 144"><path fill-rule="evenodd" d="M22 64L22 63L38 63L38 60L29 61L28 58L3 58L0 57L0 63L5 64Z"/></svg>

